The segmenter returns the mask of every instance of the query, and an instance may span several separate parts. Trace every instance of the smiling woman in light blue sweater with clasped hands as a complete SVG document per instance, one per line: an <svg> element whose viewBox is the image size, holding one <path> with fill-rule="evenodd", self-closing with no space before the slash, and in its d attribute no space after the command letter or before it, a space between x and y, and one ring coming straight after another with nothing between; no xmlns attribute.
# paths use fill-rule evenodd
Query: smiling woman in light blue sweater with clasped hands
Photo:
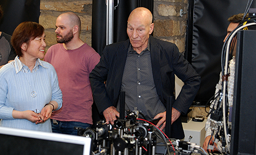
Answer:
<svg viewBox="0 0 256 155"><path fill-rule="evenodd" d="M51 113L62 107L54 67L40 59L46 42L42 25L22 22L13 32L17 57L0 69L0 126L51 132Z"/></svg>

